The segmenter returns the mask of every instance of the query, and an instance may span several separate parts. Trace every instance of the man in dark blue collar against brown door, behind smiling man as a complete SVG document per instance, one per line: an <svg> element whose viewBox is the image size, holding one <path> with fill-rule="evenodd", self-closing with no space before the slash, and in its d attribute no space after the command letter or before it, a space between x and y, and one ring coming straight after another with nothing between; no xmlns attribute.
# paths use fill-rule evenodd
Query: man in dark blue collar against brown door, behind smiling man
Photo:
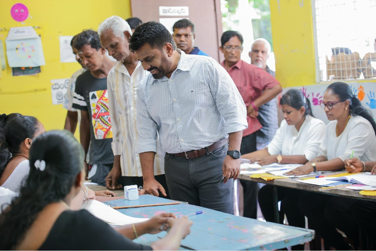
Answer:
<svg viewBox="0 0 376 251"><path fill-rule="evenodd" d="M196 34L194 33L194 24L189 19L184 18L176 21L172 29L177 48L185 54L209 56L199 47L193 47Z"/></svg>

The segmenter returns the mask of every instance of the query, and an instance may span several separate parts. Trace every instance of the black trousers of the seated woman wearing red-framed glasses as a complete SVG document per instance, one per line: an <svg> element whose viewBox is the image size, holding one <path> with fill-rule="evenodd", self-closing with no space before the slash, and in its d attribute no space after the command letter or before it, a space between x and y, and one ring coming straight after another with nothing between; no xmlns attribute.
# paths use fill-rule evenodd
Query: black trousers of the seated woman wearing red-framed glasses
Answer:
<svg viewBox="0 0 376 251"><path fill-rule="evenodd" d="M336 228L358 244L358 224L352 217L356 199L307 192L299 199L299 208L308 218L309 228L337 250L349 250L349 245Z"/></svg>

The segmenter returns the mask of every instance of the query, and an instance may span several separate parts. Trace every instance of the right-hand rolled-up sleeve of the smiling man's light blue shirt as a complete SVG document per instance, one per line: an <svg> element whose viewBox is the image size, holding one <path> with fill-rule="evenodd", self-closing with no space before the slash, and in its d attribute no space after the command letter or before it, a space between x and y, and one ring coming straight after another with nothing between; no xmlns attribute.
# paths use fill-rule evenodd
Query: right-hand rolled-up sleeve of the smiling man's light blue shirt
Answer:
<svg viewBox="0 0 376 251"><path fill-rule="evenodd" d="M246 129L248 127L246 105L229 73L212 59L206 64L205 78L217 109L224 118L226 133Z"/></svg>

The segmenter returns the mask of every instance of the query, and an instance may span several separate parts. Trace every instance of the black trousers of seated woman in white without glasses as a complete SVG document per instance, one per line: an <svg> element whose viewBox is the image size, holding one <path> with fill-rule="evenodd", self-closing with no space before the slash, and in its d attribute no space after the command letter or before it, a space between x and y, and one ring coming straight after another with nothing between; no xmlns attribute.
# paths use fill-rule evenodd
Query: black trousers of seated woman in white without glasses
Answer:
<svg viewBox="0 0 376 251"><path fill-rule="evenodd" d="M272 185L261 187L258 193L258 201L266 221L276 222L274 217L273 205L273 188ZM279 214L280 223L283 224L284 214L288 221L288 225L293 227L305 228L305 217L299 209L299 197L305 193L304 191L291 189L287 187L277 187L277 198L281 201L281 210ZM304 250L304 245L295 245L291 250Z"/></svg>

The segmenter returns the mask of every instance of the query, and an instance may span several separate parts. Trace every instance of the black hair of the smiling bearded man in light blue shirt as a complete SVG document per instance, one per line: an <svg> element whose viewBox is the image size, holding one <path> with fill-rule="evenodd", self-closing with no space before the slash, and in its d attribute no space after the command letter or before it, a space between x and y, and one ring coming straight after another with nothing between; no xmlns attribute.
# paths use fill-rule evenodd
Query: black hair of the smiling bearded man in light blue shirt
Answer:
<svg viewBox="0 0 376 251"><path fill-rule="evenodd" d="M152 48L162 49L165 44L170 43L176 49L176 43L167 28L156 21L150 21L137 26L129 41L129 50L135 52L144 44L149 44Z"/></svg>

